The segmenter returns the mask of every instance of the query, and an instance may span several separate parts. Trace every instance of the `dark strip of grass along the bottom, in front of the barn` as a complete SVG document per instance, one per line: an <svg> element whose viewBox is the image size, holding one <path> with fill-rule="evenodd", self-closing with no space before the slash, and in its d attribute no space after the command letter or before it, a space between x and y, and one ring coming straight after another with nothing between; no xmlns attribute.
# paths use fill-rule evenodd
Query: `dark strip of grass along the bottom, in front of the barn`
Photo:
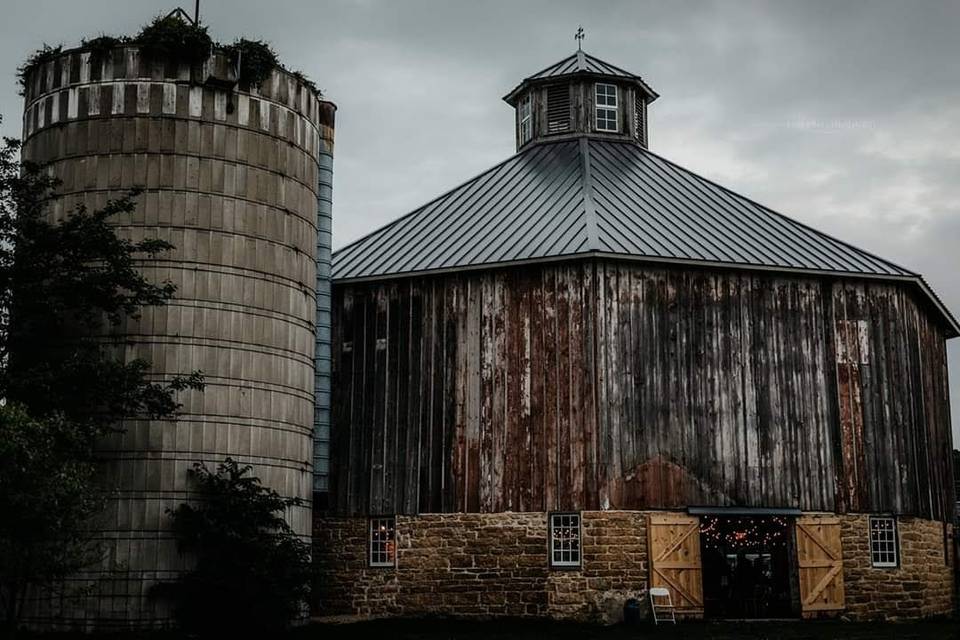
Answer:
<svg viewBox="0 0 960 640"><path fill-rule="evenodd" d="M952 620L916 623L686 622L675 627L600 627L572 623L500 620L374 620L344 624L311 624L292 631L290 640L960 640L960 623ZM178 633L22 634L44 640L183 640ZM258 639L259 640L259 639ZM263 639L267 640L267 639ZM272 639L270 639L272 640Z"/></svg>

